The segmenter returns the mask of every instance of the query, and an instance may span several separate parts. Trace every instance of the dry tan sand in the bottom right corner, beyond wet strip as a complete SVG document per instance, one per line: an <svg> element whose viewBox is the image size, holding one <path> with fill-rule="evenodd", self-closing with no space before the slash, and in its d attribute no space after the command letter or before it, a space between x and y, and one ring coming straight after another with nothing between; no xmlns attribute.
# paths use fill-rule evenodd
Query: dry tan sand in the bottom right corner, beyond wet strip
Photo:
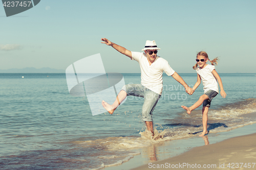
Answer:
<svg viewBox="0 0 256 170"><path fill-rule="evenodd" d="M134 169L255 169L256 133L196 147L173 158L150 162Z"/></svg>

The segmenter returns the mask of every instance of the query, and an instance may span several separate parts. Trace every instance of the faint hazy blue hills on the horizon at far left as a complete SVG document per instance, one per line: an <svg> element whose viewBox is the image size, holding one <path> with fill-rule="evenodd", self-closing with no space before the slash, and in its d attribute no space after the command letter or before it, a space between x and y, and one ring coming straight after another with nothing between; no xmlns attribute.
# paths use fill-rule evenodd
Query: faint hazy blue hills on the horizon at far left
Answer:
<svg viewBox="0 0 256 170"><path fill-rule="evenodd" d="M11 68L11 69L0 69L0 73L65 73L63 69L55 69L55 68L34 68L34 67L26 67L26 68Z"/></svg>

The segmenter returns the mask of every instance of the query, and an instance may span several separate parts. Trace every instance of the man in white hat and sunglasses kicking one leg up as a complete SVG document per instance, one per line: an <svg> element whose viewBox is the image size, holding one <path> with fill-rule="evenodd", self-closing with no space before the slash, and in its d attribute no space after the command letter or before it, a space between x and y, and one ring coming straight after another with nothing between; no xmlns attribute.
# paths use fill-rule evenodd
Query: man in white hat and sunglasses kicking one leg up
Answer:
<svg viewBox="0 0 256 170"><path fill-rule="evenodd" d="M113 114L115 109L122 103L127 95L140 96L144 98L144 104L142 107L142 119L145 121L147 130L154 135L152 112L161 96L163 88L163 71L172 76L176 81L182 84L188 94L192 94L193 90L190 88L184 80L175 72L168 64L166 60L157 56L157 47L155 41L146 41L145 47L142 49L144 53L131 52L126 48L117 45L106 38L101 38L106 45L110 45L119 53L129 57L131 60L136 60L140 64L141 69L141 84L128 84L123 86L118 93L116 101L110 105L105 101L102 101L102 106L108 110L110 114Z"/></svg>

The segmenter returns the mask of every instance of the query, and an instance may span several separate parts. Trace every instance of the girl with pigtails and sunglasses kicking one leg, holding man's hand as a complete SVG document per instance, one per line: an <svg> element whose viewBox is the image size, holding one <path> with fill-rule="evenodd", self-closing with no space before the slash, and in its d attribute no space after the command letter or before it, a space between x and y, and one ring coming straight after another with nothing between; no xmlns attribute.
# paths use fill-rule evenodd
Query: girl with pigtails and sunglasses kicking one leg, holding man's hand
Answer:
<svg viewBox="0 0 256 170"><path fill-rule="evenodd" d="M183 109L187 111L188 114L191 113L192 110L198 108L200 105L203 104L203 132L199 136L204 136L208 133L207 131L207 121L208 121L208 109L210 107L210 102L214 97L219 93L219 87L217 80L219 82L220 88L221 88L221 96L223 98L226 98L226 93L223 89L222 81L220 76L215 70L215 64L217 65L218 57L214 60L209 60L211 65L206 64L206 62L209 60L207 53L205 52L199 52L197 54L197 64L193 66L193 69L197 71L197 82L193 87L193 92L197 89L197 87L200 85L201 80L203 81L204 85L204 94L200 96L199 100L191 107L181 106Z"/></svg>

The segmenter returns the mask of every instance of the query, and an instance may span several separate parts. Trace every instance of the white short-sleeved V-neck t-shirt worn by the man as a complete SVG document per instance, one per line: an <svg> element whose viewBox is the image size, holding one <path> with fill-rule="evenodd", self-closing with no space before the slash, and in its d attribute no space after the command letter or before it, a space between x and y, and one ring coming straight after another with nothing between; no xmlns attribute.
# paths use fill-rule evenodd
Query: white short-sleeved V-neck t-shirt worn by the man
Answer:
<svg viewBox="0 0 256 170"><path fill-rule="evenodd" d="M140 64L141 85L158 94L161 94L163 89L163 71L168 76L172 76L175 73L168 61L159 56L150 65L145 53L132 52L132 60L136 60Z"/></svg>

